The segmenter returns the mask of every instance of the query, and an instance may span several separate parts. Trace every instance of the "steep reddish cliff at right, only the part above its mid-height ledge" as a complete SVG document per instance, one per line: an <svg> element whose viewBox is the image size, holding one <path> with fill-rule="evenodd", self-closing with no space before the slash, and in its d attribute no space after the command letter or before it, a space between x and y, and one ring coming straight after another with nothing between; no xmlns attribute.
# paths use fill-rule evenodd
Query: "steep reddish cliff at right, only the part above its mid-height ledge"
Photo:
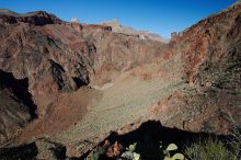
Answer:
<svg viewBox="0 0 241 160"><path fill-rule="evenodd" d="M173 38L186 61L190 83L240 88L240 5L237 2Z"/></svg>

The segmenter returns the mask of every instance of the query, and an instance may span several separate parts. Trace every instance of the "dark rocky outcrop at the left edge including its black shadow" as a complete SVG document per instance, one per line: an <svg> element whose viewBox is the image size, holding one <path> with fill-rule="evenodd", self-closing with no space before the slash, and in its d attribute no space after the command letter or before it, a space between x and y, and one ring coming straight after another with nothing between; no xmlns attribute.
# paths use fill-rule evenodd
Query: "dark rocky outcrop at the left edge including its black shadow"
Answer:
<svg viewBox="0 0 241 160"><path fill-rule="evenodd" d="M36 118L36 106L27 91L27 79L14 77L0 70L0 141L10 140L11 135ZM2 144L1 144L2 145Z"/></svg>

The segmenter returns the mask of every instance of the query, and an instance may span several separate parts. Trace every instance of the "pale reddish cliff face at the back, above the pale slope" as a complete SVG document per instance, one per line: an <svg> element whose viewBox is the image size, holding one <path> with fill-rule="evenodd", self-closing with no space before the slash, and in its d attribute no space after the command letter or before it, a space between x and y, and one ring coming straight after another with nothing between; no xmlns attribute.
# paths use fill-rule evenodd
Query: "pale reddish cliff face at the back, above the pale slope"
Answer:
<svg viewBox="0 0 241 160"><path fill-rule="evenodd" d="M159 42L96 30L84 30L83 37L96 47L94 73L91 76L93 85L114 82L122 72L150 62L164 46Z"/></svg>

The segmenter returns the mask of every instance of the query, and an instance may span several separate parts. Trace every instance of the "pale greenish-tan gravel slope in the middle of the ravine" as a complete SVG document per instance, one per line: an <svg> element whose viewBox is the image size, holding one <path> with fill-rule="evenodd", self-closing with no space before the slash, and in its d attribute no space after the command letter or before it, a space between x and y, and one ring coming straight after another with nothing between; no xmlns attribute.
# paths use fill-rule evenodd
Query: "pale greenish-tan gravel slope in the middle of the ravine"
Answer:
<svg viewBox="0 0 241 160"><path fill-rule="evenodd" d="M53 138L71 146L77 141L106 135L133 122L147 119L148 106L156 105L183 85L181 80L163 82L141 80L138 77L123 79L105 90L99 90L101 99L88 106L89 112L81 122Z"/></svg>

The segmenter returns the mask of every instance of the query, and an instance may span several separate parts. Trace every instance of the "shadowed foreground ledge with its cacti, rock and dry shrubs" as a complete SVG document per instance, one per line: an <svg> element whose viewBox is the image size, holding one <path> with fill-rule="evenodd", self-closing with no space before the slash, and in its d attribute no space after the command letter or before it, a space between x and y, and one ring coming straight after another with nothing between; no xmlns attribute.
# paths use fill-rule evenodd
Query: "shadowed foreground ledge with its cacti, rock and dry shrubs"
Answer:
<svg viewBox="0 0 241 160"><path fill-rule="evenodd" d="M162 127L159 123L149 122L135 133L110 136L112 142L105 140L102 151L92 155L93 160L240 160L241 134L231 114L225 111L223 114L232 127L229 136L192 133L185 133L184 136L183 132L158 129ZM144 132L144 128L148 132ZM157 133L151 135L152 132ZM171 138L167 137L169 135L172 135ZM177 135L184 138L176 138Z"/></svg>

